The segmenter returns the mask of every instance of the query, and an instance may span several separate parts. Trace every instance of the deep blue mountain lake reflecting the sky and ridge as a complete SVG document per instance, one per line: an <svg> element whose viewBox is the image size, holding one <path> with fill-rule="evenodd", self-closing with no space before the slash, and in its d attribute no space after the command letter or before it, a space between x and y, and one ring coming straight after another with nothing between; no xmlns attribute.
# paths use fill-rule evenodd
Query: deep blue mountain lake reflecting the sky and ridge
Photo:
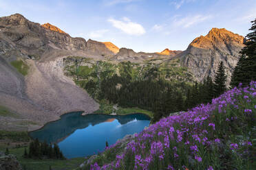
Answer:
<svg viewBox="0 0 256 170"><path fill-rule="evenodd" d="M30 132L30 136L41 142L58 143L66 158L76 158L97 154L105 149L106 141L112 145L127 134L141 132L150 123L145 114L81 114L64 114L58 121Z"/></svg>

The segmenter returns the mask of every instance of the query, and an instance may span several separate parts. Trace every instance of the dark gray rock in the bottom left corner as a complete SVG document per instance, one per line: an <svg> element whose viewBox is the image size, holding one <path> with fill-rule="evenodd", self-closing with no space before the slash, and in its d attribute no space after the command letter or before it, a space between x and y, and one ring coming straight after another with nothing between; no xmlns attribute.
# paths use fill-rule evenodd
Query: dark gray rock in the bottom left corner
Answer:
<svg viewBox="0 0 256 170"><path fill-rule="evenodd" d="M22 170L16 156L0 153L0 170Z"/></svg>

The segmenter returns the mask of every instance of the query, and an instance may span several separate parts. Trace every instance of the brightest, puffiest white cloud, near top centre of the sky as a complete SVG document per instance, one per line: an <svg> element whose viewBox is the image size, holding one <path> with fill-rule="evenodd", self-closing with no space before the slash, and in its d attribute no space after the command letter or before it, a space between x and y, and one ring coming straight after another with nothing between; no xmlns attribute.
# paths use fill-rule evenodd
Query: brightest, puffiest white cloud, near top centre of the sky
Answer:
<svg viewBox="0 0 256 170"><path fill-rule="evenodd" d="M108 19L107 21L109 21L113 27L116 27L122 32L125 32L125 34L140 36L146 33L142 25L131 22L131 20L127 17L122 18L122 20Z"/></svg>

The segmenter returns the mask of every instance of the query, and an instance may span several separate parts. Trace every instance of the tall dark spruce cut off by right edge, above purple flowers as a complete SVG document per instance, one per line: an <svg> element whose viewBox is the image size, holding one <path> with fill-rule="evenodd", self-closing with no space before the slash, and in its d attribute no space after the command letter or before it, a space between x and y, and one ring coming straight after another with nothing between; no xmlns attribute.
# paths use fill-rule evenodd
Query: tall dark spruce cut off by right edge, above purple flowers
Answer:
<svg viewBox="0 0 256 170"><path fill-rule="evenodd" d="M246 86L251 80L256 80L256 19L251 21L253 31L246 35L245 47L240 51L240 58L233 71L231 86L237 86L240 82Z"/></svg>

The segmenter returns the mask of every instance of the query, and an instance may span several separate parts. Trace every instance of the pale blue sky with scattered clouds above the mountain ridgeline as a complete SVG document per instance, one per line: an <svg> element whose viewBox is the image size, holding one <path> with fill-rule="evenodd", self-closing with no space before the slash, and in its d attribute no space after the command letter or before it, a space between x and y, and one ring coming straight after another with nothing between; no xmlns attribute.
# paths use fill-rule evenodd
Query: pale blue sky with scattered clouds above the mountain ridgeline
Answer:
<svg viewBox="0 0 256 170"><path fill-rule="evenodd" d="M0 0L0 16L19 13L73 37L134 51L184 50L212 27L246 36L255 0Z"/></svg>

